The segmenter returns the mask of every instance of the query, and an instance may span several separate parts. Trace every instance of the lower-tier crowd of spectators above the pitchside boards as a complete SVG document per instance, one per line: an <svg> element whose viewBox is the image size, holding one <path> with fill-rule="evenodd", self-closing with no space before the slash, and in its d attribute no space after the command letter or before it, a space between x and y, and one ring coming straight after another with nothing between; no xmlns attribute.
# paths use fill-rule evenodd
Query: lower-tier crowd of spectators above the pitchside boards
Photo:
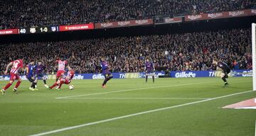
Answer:
<svg viewBox="0 0 256 136"><path fill-rule="evenodd" d="M105 57L111 72L142 72L149 58L157 71L213 70L213 58L232 69L251 69L250 29L166 35L98 38L61 42L21 42L0 45L0 75L17 55L42 60L46 73L56 72L55 60L65 55L76 73L100 72Z"/></svg>

